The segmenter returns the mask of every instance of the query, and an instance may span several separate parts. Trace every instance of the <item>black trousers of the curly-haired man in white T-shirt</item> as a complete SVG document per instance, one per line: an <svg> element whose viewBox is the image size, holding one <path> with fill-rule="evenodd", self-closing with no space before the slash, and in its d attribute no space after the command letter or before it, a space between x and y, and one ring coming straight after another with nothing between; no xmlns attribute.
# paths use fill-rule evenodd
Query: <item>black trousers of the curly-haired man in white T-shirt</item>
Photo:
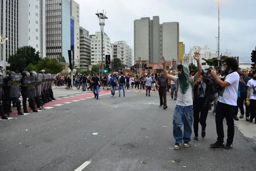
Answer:
<svg viewBox="0 0 256 171"><path fill-rule="evenodd" d="M218 101L216 106L215 123L218 138L220 143L224 142L224 130L223 119L226 118L228 130L227 130L227 143L233 143L235 128L234 128L234 115L236 113L237 106L221 103Z"/></svg>

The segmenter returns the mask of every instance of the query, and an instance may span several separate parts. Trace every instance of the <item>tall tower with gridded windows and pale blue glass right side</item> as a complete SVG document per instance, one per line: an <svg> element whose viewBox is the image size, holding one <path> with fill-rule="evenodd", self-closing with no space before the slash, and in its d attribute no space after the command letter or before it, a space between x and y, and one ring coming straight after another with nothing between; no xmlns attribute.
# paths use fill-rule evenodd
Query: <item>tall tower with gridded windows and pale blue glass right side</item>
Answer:
<svg viewBox="0 0 256 171"><path fill-rule="evenodd" d="M70 0L45 0L46 57L65 57L71 48Z"/></svg>

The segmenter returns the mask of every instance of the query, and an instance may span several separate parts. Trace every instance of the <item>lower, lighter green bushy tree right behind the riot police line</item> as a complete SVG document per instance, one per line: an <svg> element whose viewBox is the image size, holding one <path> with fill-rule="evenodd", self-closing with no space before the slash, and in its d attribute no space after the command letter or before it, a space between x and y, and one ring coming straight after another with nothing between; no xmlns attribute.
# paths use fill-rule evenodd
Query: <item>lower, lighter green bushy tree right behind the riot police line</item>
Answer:
<svg viewBox="0 0 256 171"><path fill-rule="evenodd" d="M44 58L41 59L36 65L30 63L26 67L26 71L36 71L45 70L45 73L56 74L61 72L64 68L64 65L59 63L56 59Z"/></svg>

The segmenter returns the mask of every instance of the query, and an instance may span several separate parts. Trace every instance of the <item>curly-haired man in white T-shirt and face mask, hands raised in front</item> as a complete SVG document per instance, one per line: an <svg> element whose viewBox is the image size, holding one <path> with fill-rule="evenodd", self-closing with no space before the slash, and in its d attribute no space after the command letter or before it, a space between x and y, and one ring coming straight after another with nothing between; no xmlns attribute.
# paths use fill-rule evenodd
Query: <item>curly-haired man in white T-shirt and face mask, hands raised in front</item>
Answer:
<svg viewBox="0 0 256 171"><path fill-rule="evenodd" d="M237 60L234 58L226 58L223 63L223 67L226 68L224 78L218 78L216 71L212 70L211 75L215 79L216 83L222 88L219 92L218 103L216 106L216 130L217 141L211 144L211 148L225 148L231 149L233 146L234 138L234 115L237 110L237 90L239 85L240 76L236 72L238 68ZM223 131L223 119L226 118L227 122L227 142L224 146L224 131Z"/></svg>

